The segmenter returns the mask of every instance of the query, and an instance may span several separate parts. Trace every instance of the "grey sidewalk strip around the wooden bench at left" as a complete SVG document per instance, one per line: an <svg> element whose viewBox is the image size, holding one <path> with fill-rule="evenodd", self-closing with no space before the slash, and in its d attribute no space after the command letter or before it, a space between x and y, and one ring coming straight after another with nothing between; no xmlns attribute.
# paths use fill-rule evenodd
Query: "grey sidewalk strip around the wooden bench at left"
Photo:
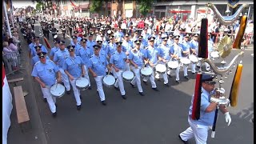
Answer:
<svg viewBox="0 0 256 144"><path fill-rule="evenodd" d="M10 129L8 132L7 142L8 144L46 144L46 135L44 133L42 122L40 115L38 113L38 104L36 98L34 97L34 89L33 89L33 78L30 76L31 74L31 66L30 66L30 58L28 57L28 44L26 40L23 38L20 30L20 40L22 42L22 66L24 69L18 70L14 72L14 74L10 74L7 76L7 79L13 78L24 78L23 81L17 82L17 86L22 86L23 91L27 91L29 94L26 95L26 108L28 110L30 116L30 124L31 128L26 127L26 130L22 133L21 127L18 125L16 107L14 102L14 83L10 83L10 91L13 96L13 110L10 115Z"/></svg>

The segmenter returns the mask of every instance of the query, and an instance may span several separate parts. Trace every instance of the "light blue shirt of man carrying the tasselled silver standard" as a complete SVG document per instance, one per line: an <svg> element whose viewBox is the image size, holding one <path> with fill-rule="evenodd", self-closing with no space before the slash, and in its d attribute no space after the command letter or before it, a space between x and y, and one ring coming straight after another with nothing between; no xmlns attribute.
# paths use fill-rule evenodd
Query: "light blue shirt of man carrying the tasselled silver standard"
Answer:
<svg viewBox="0 0 256 144"><path fill-rule="evenodd" d="M192 115L192 106L194 102L194 94L191 99L191 106L189 110L189 115ZM206 113L206 108L210 105L210 94L202 88L202 94L201 94L201 104L200 104L200 118L198 120L192 120L193 122L197 123L198 125L203 126L213 126L214 124L214 115L215 110L213 110L210 113Z"/></svg>

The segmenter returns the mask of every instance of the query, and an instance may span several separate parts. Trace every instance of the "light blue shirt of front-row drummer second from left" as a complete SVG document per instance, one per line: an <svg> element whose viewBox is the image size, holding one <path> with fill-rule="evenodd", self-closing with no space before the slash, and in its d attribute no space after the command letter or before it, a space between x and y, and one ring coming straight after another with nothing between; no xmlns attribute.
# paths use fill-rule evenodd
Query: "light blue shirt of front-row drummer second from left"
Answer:
<svg viewBox="0 0 256 144"><path fill-rule="evenodd" d="M67 70L74 78L79 78L82 74L82 66L85 63L82 58L74 55L74 57L68 57L63 64L63 70Z"/></svg>

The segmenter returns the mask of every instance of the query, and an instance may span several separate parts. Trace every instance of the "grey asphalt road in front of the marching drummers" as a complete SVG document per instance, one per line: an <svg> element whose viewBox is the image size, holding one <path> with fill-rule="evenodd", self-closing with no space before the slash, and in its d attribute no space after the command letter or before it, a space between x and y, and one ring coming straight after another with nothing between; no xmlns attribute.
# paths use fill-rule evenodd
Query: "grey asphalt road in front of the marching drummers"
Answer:
<svg viewBox="0 0 256 144"><path fill-rule="evenodd" d="M38 32L38 26L36 31ZM61 36L61 34L59 34ZM66 39L66 42L67 39ZM50 38L53 46L52 38ZM234 58L239 50L232 50L230 57ZM232 122L226 126L223 114L219 114L216 128L216 138L208 137L209 143L253 143L254 117L254 62L252 50L246 50L242 58L242 82L239 90L238 106L229 107ZM24 54L26 61L28 58ZM230 62L231 58L226 58ZM216 60L216 63L221 59ZM239 61L238 61L239 62ZM170 87L163 82L156 82L159 92L151 90L150 83L142 83L146 96L138 94L137 88L132 88L125 82L126 100L121 98L120 92L114 88L104 87L107 106L102 106L96 93L96 85L90 78L92 90L82 91L82 110L76 110L74 95L65 94L58 98L58 116L52 118L47 103L42 101L42 92L38 83L29 78L31 67L27 66L28 80L22 83L26 90L31 90L27 97L35 99L36 106L29 106L33 118L32 129L21 133L15 120L15 110L11 116L11 129L8 143L48 143L48 144L169 144L182 143L178 134L189 126L187 114L190 106L191 94L194 91L195 77L189 72L190 80L186 81L181 72L180 84L175 79L169 78ZM230 85L234 71L225 78L226 94L230 92ZM31 87L30 87L31 86ZM32 105L32 104L31 104ZM35 109L35 110L34 110ZM38 114L34 114L38 112ZM38 117L38 118L37 118ZM38 122L38 125L37 125ZM39 123L42 122L42 123ZM40 131L42 130L42 131ZM210 133L209 133L210 134ZM45 142L46 141L46 142ZM190 143L195 143L190 140Z"/></svg>

